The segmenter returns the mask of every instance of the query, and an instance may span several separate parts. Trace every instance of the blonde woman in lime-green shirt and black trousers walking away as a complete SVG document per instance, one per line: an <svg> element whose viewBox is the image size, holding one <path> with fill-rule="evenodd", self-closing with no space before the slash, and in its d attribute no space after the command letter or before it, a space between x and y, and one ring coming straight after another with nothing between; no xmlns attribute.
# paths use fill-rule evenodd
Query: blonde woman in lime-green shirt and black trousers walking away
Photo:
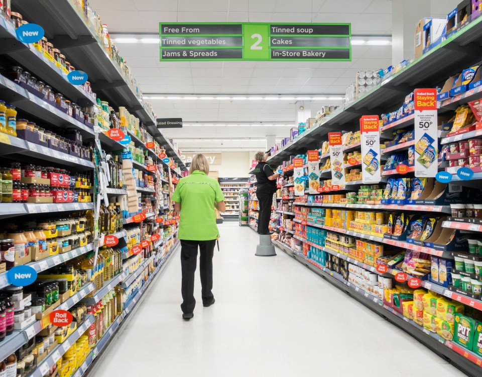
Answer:
<svg viewBox="0 0 482 377"><path fill-rule="evenodd" d="M214 304L212 290L212 256L219 231L216 225L216 211L224 212L224 196L219 183L209 178L209 163L198 154L194 156L189 175L181 178L172 196L174 210L179 212L179 233L181 240L182 270L182 318L194 316L194 272L196 271L197 249L200 251L199 269L203 306Z"/></svg>

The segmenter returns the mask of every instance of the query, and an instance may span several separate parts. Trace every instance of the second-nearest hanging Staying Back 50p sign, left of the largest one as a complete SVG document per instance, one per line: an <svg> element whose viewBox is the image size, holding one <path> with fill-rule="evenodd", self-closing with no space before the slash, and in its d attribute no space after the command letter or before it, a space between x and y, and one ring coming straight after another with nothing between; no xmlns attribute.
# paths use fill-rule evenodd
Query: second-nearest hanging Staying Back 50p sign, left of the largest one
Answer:
<svg viewBox="0 0 482 377"><path fill-rule="evenodd" d="M362 182L380 183L380 119L378 115L364 115L360 118L362 137Z"/></svg>

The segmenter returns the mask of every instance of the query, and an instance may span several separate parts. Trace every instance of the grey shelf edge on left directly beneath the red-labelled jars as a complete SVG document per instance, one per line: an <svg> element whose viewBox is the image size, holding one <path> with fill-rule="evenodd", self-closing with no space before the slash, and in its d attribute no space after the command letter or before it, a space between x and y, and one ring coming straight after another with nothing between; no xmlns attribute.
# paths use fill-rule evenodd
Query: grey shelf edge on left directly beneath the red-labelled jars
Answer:
<svg viewBox="0 0 482 377"><path fill-rule="evenodd" d="M29 213L68 212L93 208L93 203L0 203L0 218Z"/></svg>

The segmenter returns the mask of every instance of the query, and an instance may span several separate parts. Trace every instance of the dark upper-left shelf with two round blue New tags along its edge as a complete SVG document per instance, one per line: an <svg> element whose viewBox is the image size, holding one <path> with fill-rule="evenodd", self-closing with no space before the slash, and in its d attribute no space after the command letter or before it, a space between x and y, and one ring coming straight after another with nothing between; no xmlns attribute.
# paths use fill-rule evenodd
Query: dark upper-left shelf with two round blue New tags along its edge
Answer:
<svg viewBox="0 0 482 377"><path fill-rule="evenodd" d="M72 85L67 75L54 63L44 57L33 44L19 42L14 25L0 18L0 38L2 38L2 52L23 65L34 76L49 82L52 87L62 92L73 102L81 106L92 105L95 99L81 86Z"/></svg>

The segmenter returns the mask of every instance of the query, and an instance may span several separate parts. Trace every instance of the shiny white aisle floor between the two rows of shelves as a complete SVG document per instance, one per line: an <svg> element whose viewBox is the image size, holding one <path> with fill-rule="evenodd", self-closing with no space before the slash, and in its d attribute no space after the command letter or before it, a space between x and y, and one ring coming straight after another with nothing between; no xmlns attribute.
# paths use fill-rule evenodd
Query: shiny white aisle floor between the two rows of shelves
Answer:
<svg viewBox="0 0 482 377"><path fill-rule="evenodd" d="M250 228L220 230L216 303L199 305L197 280L194 318L182 320L178 249L93 375L464 375L281 250L255 257Z"/></svg>

